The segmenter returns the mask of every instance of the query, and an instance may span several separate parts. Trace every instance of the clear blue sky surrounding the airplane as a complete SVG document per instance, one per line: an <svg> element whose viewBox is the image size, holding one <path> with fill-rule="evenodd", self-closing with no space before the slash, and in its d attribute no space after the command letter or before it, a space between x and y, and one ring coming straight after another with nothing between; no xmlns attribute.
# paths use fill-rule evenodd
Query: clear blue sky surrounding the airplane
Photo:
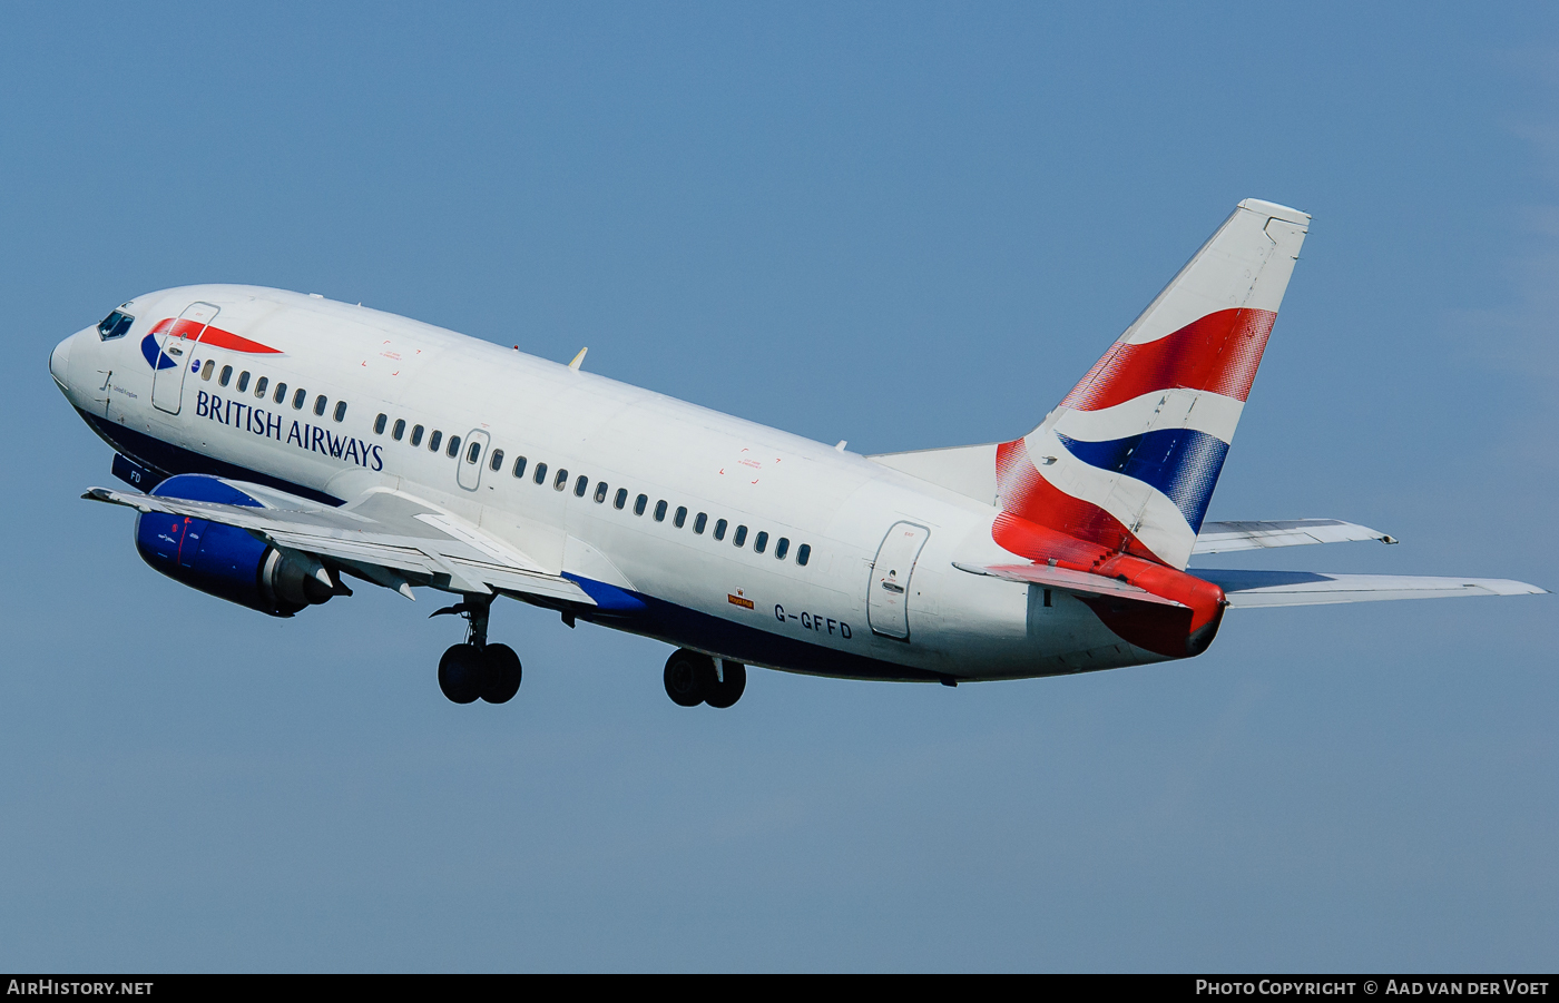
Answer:
<svg viewBox="0 0 1559 1003"><path fill-rule="evenodd" d="M0 37L0 966L1545 969L1551 598L1252 611L1069 679L755 673L382 590L273 621L78 502L48 349L365 302L851 449L1034 427L1241 198L1314 213L1211 519L1559 587L1540 5L51 5ZM1235 564L1225 559L1221 564Z"/></svg>

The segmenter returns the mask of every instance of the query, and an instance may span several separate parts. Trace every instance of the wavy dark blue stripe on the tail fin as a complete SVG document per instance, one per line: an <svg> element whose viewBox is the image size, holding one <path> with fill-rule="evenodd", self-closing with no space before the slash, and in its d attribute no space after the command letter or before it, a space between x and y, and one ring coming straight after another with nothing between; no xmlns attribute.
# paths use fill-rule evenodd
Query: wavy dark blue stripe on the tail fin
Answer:
<svg viewBox="0 0 1559 1003"><path fill-rule="evenodd" d="M1085 442L1060 433L1055 438L1090 467L1124 473L1161 491L1194 533L1202 531L1207 503L1228 455L1228 442L1193 428L1158 428L1108 442Z"/></svg>

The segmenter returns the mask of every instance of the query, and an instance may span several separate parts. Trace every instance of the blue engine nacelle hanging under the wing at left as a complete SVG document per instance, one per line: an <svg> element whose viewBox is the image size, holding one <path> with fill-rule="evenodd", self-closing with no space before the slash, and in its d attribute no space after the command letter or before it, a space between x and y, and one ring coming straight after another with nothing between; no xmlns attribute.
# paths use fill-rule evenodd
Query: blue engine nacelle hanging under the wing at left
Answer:
<svg viewBox="0 0 1559 1003"><path fill-rule="evenodd" d="M203 473L181 473L157 484L153 495L262 508L232 484ZM136 550L173 581L273 617L292 617L335 595L315 573L312 558L281 551L245 530L206 519L142 512L136 517Z"/></svg>

